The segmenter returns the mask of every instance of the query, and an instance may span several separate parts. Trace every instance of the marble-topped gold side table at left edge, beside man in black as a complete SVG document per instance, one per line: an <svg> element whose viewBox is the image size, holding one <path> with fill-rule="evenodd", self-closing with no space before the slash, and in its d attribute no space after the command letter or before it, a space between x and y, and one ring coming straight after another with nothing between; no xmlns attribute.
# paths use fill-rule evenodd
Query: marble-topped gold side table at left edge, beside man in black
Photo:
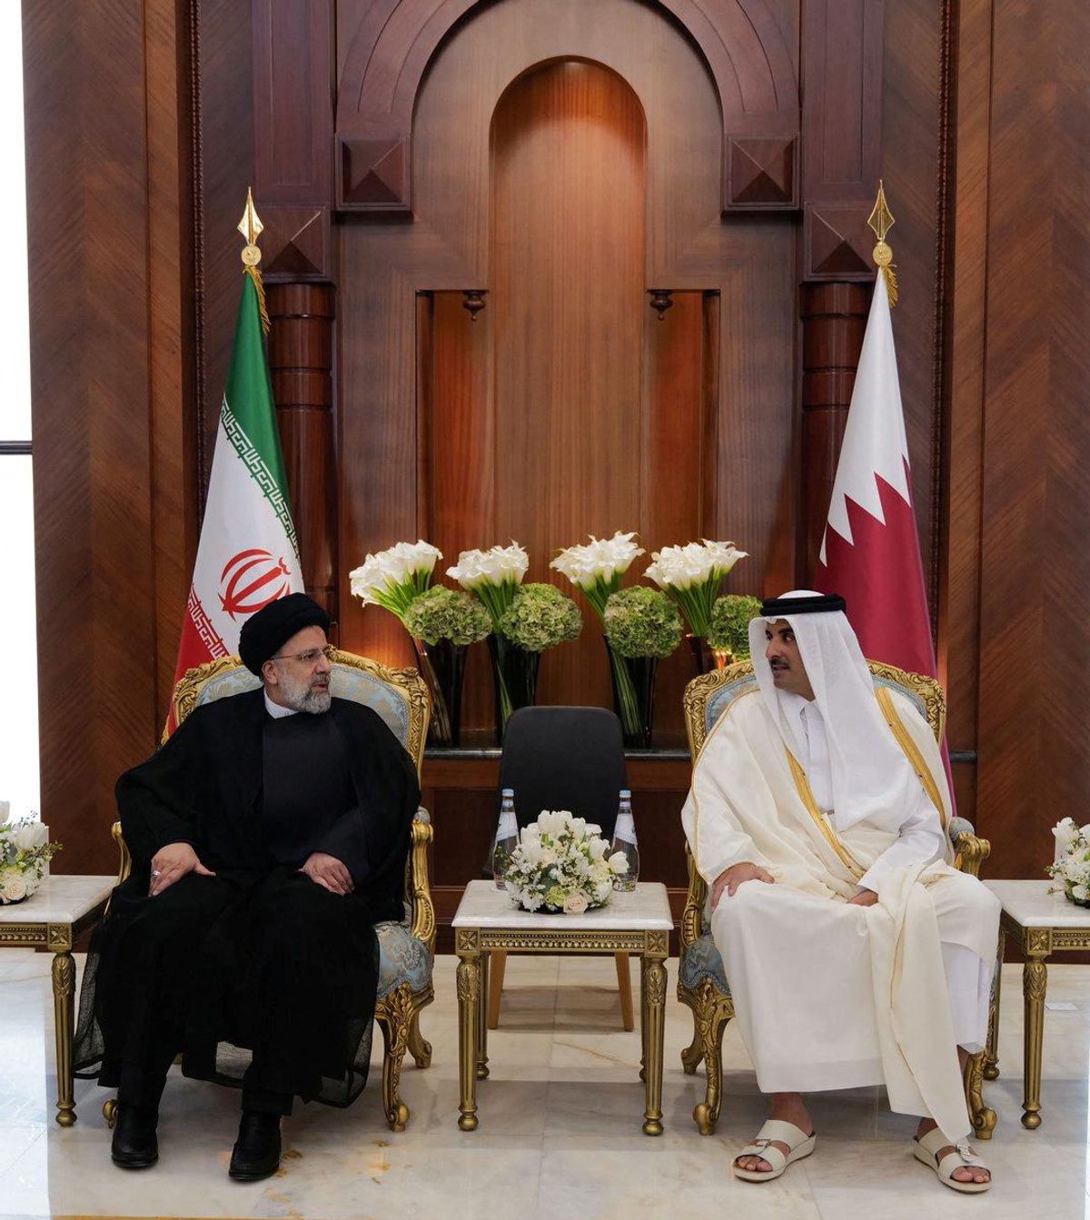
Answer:
<svg viewBox="0 0 1090 1220"><path fill-rule="evenodd" d="M82 932L101 919L110 900L110 892L116 884L116 876L46 877L33 898L6 906L0 905L0 947L49 949L54 955L56 1119L62 1127L71 1127L76 1121L72 1082L76 963L72 959L72 946Z"/></svg>

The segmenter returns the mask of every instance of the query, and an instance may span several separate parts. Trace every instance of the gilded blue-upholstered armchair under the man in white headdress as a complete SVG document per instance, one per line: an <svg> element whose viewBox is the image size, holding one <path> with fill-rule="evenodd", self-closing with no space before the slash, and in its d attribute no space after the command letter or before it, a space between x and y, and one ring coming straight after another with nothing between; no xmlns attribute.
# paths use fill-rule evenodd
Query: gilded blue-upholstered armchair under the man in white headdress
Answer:
<svg viewBox="0 0 1090 1220"><path fill-rule="evenodd" d="M938 741L942 739L946 720L946 698L934 678L908 673L892 665L868 661L875 693L892 688L907 695L927 717ZM725 670L705 673L694 678L685 688L685 730L689 752L695 760L712 726L730 703L756 686L753 666L739 661ZM956 859L955 866L980 875L980 865L988 858L990 844L978 838L971 822L955 817L949 826ZM682 915L680 964L678 969L678 999L693 1010L693 1042L682 1052L682 1066L693 1075L701 1060L707 1074L705 1098L693 1110L693 1119L701 1135L711 1135L719 1118L723 1094L722 1046L723 1031L734 1016L734 1002L719 952L712 941L708 921L708 887L694 867L693 855L686 845L685 859L689 867L689 892ZM991 1137L995 1111L984 1105L981 1097L985 1052L971 1058L966 1069L966 1097L973 1127L981 1139Z"/></svg>

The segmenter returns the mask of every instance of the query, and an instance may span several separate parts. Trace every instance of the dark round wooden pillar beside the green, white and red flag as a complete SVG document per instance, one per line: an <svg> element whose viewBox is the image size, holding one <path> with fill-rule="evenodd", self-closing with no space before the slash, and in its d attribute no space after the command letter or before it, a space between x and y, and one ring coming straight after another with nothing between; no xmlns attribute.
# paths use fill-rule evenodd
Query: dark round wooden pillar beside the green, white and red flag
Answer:
<svg viewBox="0 0 1090 1220"><path fill-rule="evenodd" d="M338 620L332 284L269 284L268 367L306 592ZM335 638L335 637L334 637Z"/></svg>

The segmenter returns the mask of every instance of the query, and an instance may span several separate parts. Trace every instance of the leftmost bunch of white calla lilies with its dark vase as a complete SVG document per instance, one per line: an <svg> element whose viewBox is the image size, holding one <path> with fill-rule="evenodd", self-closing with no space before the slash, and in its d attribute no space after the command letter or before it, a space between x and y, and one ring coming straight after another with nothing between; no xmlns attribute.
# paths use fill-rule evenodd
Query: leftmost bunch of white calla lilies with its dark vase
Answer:
<svg viewBox="0 0 1090 1220"><path fill-rule="evenodd" d="M423 539L415 543L399 542L377 555L368 555L360 567L349 572L349 580L352 595L360 598L365 606L377 605L389 610L408 632L417 669L432 697L428 738L435 745L452 745L456 744L454 726L461 720L465 650L457 656L454 645L441 645L441 633L433 633L434 639L426 640L417 630L419 623L410 621L413 604L432 586L432 575L439 559L443 559L443 553Z"/></svg>

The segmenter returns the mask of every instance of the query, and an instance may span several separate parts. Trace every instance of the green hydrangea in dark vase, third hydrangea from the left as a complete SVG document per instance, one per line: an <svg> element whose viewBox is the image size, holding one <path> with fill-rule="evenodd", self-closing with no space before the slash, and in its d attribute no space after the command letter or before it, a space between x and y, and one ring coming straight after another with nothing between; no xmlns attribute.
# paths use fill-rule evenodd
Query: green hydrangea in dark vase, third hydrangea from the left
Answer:
<svg viewBox="0 0 1090 1220"><path fill-rule="evenodd" d="M636 584L610 595L602 623L624 744L646 748L655 720L655 670L682 642L682 616L664 593Z"/></svg>

